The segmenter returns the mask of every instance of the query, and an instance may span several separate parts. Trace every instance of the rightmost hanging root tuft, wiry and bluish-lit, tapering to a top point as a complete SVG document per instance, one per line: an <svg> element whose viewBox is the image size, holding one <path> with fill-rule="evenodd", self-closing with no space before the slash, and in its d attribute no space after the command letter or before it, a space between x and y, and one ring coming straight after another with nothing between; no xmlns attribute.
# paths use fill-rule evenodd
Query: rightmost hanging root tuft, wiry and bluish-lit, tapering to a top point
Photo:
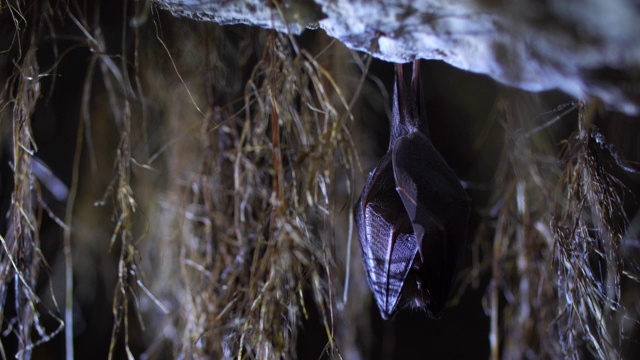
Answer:
<svg viewBox="0 0 640 360"><path fill-rule="evenodd" d="M613 313L620 308L620 244L628 227L620 192L605 155L604 136L580 106L580 132L568 143L564 199L551 222L555 240L560 344L572 357L583 341L599 358L620 357ZM607 153L609 151L609 153ZM562 190L561 190L562 191Z"/></svg>

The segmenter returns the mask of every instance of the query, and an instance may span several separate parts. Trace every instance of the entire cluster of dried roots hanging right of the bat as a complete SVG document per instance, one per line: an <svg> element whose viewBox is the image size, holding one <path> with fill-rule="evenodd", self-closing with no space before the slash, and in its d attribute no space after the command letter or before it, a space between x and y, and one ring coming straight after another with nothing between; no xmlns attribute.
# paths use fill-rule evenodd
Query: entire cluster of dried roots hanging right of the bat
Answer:
<svg viewBox="0 0 640 360"><path fill-rule="evenodd" d="M492 358L620 358L635 331L620 314L629 322L638 315L635 300L621 302L621 284L637 280L623 251L623 196L631 193L613 174L635 170L593 124L597 106L569 103L542 116L536 108L512 94L494 109L504 151L474 245L484 253L475 271L491 274ZM578 130L554 143L547 127L561 119Z"/></svg>

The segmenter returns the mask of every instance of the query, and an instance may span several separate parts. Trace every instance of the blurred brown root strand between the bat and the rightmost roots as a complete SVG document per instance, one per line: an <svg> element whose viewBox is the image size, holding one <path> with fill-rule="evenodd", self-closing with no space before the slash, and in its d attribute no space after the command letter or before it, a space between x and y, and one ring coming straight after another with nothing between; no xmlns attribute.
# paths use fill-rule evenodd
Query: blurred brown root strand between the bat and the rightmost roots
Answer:
<svg viewBox="0 0 640 360"><path fill-rule="evenodd" d="M476 235L476 246L482 246L483 234L495 229L486 252L492 274L486 294L492 359L558 354L548 332L553 314L547 306L554 294L546 220L558 170L545 134L522 131L537 109L536 98L517 93L501 98L494 111L505 132L490 201L489 215L495 219L482 223Z"/></svg>

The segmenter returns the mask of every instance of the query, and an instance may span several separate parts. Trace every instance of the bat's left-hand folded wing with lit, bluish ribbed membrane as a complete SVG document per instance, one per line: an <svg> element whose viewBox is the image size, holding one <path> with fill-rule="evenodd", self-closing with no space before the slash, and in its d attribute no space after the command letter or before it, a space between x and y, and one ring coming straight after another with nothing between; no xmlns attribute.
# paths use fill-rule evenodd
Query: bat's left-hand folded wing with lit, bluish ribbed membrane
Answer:
<svg viewBox="0 0 640 360"><path fill-rule="evenodd" d="M418 252L415 235L406 231L410 222L395 191L390 154L369 175L355 213L367 281L382 317L388 319Z"/></svg>

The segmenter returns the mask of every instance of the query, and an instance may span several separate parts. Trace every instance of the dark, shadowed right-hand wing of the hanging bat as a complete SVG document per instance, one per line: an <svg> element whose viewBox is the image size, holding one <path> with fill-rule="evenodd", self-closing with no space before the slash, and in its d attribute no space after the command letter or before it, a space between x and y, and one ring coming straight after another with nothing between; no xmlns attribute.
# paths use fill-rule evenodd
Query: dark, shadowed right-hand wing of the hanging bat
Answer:
<svg viewBox="0 0 640 360"><path fill-rule="evenodd" d="M396 190L419 246L430 310L437 314L463 256L469 200L431 140L419 132L396 141L392 164Z"/></svg>

